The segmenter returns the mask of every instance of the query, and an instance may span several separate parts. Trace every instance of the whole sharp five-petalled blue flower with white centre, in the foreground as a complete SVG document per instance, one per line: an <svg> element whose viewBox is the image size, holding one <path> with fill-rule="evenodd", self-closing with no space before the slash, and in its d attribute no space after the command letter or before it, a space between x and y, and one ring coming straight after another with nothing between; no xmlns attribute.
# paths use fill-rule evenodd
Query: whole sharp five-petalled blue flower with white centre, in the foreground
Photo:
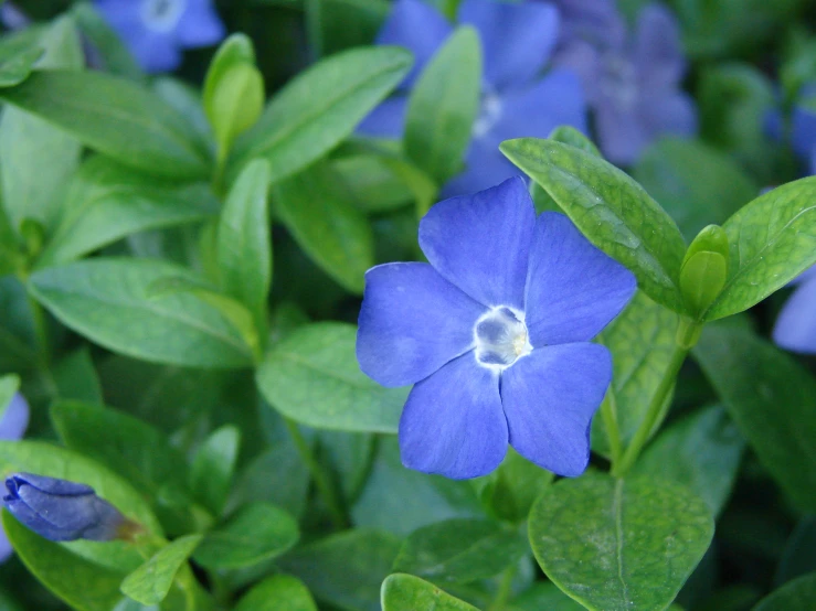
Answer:
<svg viewBox="0 0 816 611"><path fill-rule="evenodd" d="M445 200L420 223L428 264L365 274L357 357L383 386L414 384L400 419L405 467L485 475L508 442L561 475L590 458L612 378L590 343L632 298L624 266L558 213L536 218L521 178Z"/></svg>

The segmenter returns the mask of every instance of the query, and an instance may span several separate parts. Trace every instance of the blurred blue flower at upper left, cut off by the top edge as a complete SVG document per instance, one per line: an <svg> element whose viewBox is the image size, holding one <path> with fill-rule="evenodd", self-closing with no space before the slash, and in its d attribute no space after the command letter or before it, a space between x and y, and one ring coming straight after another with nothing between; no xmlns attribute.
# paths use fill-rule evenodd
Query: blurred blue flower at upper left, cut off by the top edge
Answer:
<svg viewBox="0 0 816 611"><path fill-rule="evenodd" d="M225 30L212 0L94 0L147 72L172 71L180 49L208 46Z"/></svg>

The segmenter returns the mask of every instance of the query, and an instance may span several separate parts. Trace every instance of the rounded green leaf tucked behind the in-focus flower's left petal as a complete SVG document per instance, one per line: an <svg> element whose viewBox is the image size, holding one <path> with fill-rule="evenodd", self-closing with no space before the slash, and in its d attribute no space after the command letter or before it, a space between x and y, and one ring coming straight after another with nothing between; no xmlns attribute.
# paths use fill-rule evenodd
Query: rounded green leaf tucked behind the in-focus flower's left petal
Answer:
<svg viewBox="0 0 816 611"><path fill-rule="evenodd" d="M383 388L357 364L357 329L304 325L272 347L257 369L261 393L275 409L319 429L396 432L405 388Z"/></svg>

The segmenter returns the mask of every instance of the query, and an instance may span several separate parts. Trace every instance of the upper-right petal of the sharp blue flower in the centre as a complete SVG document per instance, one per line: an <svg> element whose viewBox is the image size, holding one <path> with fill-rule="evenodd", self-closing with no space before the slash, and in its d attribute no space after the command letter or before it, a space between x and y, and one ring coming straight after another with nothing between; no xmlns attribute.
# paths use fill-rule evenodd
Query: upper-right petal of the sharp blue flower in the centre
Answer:
<svg viewBox="0 0 816 611"><path fill-rule="evenodd" d="M539 216L524 297L533 347L591 340L621 313L636 288L635 276L590 244L566 216Z"/></svg>

